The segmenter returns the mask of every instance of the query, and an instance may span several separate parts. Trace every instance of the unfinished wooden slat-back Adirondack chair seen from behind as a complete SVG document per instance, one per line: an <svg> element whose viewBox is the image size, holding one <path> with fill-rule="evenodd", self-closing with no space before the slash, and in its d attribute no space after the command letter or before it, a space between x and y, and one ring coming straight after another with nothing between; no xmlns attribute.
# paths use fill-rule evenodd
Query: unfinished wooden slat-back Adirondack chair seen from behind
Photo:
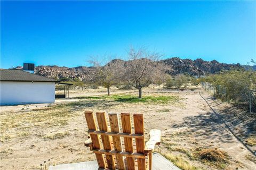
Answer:
<svg viewBox="0 0 256 170"><path fill-rule="evenodd" d="M95 153L99 168L151 169L152 151L155 145L160 144L161 131L150 130L150 139L145 145L142 114L133 114L134 132L132 132L129 113L121 113L122 131L119 128L119 117L116 113L108 114L109 128L105 112L97 112L99 129L95 124L93 112L86 111L84 114L90 134L90 139L85 141L85 146L90 147Z"/></svg>

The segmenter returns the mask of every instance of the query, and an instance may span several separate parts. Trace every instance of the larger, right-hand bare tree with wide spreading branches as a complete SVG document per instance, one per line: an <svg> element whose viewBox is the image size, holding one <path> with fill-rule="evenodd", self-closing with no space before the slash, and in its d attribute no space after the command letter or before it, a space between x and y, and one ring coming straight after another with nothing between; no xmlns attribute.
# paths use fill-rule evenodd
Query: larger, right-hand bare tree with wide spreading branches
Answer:
<svg viewBox="0 0 256 170"><path fill-rule="evenodd" d="M142 97L142 88L162 79L162 68L155 61L161 56L157 52L150 52L147 48L130 48L129 61L124 64L122 79L139 90Z"/></svg>

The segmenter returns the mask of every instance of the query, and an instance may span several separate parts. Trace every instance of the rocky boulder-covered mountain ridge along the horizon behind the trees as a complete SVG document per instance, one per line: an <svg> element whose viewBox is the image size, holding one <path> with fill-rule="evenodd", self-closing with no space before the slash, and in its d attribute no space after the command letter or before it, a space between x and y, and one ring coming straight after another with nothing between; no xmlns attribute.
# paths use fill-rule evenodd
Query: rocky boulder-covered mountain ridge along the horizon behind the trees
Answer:
<svg viewBox="0 0 256 170"><path fill-rule="evenodd" d="M110 61L111 63L126 64L130 61L123 61L115 59ZM240 64L225 64L219 63L218 61L204 61L201 58L197 60L190 60L178 57L167 58L166 60L161 60L155 62L155 65L161 65L165 68L165 72L171 75L188 73L190 75L205 75L205 74L215 74L219 73L222 70L231 70L231 69L243 69ZM57 65L53 66L36 66L35 73L38 75L43 75L45 77L60 79L60 78L70 78L70 79L79 79L79 80L89 80L94 72L95 67L59 67Z"/></svg>

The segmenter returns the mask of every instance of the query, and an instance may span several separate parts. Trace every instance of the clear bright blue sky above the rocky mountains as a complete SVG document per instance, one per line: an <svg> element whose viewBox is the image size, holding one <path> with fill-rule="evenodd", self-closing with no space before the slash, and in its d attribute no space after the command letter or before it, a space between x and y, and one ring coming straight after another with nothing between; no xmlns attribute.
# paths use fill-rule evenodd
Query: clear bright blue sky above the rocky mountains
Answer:
<svg viewBox="0 0 256 170"><path fill-rule="evenodd" d="M246 64L256 59L256 1L1 1L1 68L87 65L130 45Z"/></svg>

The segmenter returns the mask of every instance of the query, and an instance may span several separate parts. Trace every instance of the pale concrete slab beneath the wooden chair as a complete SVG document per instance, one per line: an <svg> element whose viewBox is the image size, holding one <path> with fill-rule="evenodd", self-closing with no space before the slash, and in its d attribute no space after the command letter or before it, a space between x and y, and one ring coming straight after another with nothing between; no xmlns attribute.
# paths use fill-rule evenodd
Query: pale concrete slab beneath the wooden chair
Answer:
<svg viewBox="0 0 256 170"><path fill-rule="evenodd" d="M56 166L50 166L49 170L97 170L99 168L97 160L73 163L73 164L61 164ZM161 154L153 154L153 170L180 170L177 166L163 157Z"/></svg>

